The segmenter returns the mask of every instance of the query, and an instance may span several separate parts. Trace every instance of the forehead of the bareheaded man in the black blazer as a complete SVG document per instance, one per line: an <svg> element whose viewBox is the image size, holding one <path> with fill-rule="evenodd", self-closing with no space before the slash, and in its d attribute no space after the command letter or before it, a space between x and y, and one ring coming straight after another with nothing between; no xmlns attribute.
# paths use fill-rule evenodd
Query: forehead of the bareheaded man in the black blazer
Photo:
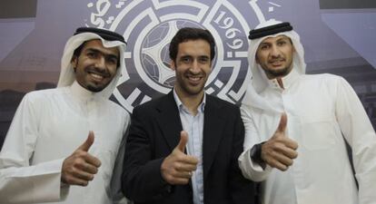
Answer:
<svg viewBox="0 0 376 204"><path fill-rule="evenodd" d="M178 55L210 55L210 44L205 40L188 40L178 46Z"/></svg>

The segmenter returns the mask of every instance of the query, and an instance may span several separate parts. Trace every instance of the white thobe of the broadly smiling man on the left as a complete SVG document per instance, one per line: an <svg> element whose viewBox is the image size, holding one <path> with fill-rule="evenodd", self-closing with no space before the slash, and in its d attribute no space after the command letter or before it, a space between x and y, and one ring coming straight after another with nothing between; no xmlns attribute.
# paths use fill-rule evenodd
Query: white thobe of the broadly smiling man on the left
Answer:
<svg viewBox="0 0 376 204"><path fill-rule="evenodd" d="M0 152L0 203L125 202L120 174L129 121L119 105L76 82L27 93ZM89 131L94 131L89 153L102 165L88 186L67 186L61 183L63 161L84 143Z"/></svg>

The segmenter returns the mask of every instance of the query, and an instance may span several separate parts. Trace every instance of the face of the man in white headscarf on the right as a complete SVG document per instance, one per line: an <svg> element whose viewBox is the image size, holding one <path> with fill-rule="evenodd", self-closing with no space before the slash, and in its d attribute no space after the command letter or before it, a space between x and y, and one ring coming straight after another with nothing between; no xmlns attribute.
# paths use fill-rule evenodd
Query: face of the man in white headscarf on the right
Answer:
<svg viewBox="0 0 376 204"><path fill-rule="evenodd" d="M295 49L285 35L265 38L257 48L256 63L262 66L269 79L284 76L292 69Z"/></svg>

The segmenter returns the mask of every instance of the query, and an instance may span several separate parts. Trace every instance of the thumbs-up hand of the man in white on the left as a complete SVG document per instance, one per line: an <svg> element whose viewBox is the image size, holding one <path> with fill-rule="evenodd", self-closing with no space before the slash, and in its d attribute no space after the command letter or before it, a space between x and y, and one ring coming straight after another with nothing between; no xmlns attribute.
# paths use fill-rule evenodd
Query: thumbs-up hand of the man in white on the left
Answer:
<svg viewBox="0 0 376 204"><path fill-rule="evenodd" d="M86 141L63 162L62 181L70 185L87 186L94 174L98 172L101 161L90 155L94 143L94 132L89 131Z"/></svg>

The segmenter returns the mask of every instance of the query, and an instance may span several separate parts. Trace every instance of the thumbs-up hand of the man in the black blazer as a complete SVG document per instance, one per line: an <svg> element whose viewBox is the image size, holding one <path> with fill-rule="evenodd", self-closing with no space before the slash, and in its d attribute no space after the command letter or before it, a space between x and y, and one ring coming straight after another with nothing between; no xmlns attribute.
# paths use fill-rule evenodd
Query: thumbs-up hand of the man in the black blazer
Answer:
<svg viewBox="0 0 376 204"><path fill-rule="evenodd" d="M162 162L161 174L163 180L171 185L187 184L192 177L192 171L197 168L198 160L184 153L187 141L188 133L181 131L179 144Z"/></svg>

